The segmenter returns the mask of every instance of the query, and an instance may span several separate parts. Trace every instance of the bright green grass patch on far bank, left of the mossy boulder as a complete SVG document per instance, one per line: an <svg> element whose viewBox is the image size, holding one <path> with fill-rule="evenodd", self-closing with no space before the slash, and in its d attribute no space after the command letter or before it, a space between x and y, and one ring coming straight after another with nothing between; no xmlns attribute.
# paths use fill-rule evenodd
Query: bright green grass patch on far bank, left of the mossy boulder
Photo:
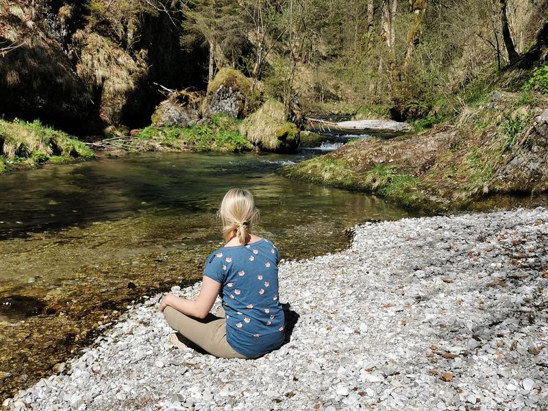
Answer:
<svg viewBox="0 0 548 411"><path fill-rule="evenodd" d="M138 139L155 142L165 149L194 149L196 151L249 151L253 147L237 127L240 121L224 114L214 114L210 122L190 127L149 126L142 129ZM136 141L135 146L141 145Z"/></svg>

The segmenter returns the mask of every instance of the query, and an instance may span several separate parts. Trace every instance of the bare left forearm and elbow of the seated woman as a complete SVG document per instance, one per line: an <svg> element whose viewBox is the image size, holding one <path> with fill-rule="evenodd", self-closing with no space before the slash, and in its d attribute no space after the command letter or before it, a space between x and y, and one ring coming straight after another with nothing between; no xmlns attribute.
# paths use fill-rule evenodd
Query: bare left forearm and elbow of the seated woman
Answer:
<svg viewBox="0 0 548 411"><path fill-rule="evenodd" d="M203 276L200 294L195 300L177 297L173 294L168 294L162 303L160 303L160 311L164 312L167 306L175 308L175 310L183 314L205 319L209 314L217 295L221 290L221 284L210 277Z"/></svg>

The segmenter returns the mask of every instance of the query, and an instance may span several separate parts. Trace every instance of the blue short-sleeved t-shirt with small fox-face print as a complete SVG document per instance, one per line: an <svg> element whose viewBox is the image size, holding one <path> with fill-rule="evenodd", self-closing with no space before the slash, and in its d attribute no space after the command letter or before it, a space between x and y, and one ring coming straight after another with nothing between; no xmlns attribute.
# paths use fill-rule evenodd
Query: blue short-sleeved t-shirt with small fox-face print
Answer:
<svg viewBox="0 0 548 411"><path fill-rule="evenodd" d="M214 251L203 269L203 275L221 284L227 342L244 356L262 356L284 342L278 262L278 250L262 238Z"/></svg>

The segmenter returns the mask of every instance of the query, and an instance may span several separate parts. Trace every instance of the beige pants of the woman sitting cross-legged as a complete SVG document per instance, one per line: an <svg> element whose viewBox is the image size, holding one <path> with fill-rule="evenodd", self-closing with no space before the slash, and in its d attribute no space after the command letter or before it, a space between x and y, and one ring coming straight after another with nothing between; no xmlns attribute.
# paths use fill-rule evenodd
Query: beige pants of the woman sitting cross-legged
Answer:
<svg viewBox="0 0 548 411"><path fill-rule="evenodd" d="M185 315L169 306L164 309L164 316L171 328L208 353L221 358L248 358L234 351L227 343L225 310L222 307L216 315L210 313L203 320Z"/></svg>

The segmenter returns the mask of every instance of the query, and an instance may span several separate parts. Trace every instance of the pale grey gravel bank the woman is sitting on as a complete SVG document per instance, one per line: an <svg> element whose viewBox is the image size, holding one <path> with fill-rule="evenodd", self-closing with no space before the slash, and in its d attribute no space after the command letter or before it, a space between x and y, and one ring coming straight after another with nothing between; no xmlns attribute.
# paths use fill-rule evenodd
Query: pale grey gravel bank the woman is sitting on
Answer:
<svg viewBox="0 0 548 411"><path fill-rule="evenodd" d="M4 405L547 409L548 210L366 223L354 232L343 252L280 264L280 297L297 323L277 351L226 360L177 349L157 295L129 308L66 370Z"/></svg>

